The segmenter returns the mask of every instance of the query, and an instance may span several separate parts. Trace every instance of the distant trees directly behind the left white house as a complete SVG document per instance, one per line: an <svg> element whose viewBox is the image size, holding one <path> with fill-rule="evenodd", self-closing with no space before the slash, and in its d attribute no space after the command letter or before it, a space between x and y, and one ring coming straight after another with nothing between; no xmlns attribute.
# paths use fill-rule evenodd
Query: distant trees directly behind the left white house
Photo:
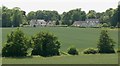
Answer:
<svg viewBox="0 0 120 66"><path fill-rule="evenodd" d="M31 11L27 14L27 19L42 19L45 21L57 21L60 20L60 15L57 11L46 11L46 10L38 10L36 12Z"/></svg>

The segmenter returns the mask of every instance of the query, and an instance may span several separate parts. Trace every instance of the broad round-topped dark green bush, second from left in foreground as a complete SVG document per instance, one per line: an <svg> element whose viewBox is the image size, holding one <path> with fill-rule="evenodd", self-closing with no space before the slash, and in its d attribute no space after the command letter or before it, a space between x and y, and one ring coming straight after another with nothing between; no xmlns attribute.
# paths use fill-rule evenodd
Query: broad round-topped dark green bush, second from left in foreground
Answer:
<svg viewBox="0 0 120 66"><path fill-rule="evenodd" d="M44 57L60 55L60 42L53 34L40 32L32 37L32 40L35 45L32 55L41 55Z"/></svg>

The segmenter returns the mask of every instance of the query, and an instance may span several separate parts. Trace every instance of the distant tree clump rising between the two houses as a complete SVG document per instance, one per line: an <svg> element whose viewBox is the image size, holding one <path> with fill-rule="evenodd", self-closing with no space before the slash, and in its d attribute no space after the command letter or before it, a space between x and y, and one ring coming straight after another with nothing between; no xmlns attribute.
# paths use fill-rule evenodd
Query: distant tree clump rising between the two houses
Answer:
<svg viewBox="0 0 120 66"><path fill-rule="evenodd" d="M84 21L86 19L85 11L81 11L81 8L70 10L62 14L62 24L72 25L74 21Z"/></svg>

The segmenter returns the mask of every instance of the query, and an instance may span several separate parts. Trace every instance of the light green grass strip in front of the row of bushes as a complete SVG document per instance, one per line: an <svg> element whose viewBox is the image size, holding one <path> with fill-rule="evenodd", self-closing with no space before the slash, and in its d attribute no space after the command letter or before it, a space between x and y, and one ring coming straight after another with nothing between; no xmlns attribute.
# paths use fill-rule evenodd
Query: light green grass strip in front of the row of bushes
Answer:
<svg viewBox="0 0 120 66"><path fill-rule="evenodd" d="M117 54L3 58L3 64L118 64Z"/></svg>

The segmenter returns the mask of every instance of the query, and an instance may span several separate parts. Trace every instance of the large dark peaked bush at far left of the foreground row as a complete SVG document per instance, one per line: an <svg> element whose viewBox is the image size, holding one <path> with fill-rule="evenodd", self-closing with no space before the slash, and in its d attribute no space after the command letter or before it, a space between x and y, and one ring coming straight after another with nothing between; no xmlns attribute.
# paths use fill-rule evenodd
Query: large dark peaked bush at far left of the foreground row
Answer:
<svg viewBox="0 0 120 66"><path fill-rule="evenodd" d="M17 29L12 31L7 36L7 42L5 47L2 49L2 56L3 57L21 57L27 55L27 45L28 40L24 36L24 33Z"/></svg>

